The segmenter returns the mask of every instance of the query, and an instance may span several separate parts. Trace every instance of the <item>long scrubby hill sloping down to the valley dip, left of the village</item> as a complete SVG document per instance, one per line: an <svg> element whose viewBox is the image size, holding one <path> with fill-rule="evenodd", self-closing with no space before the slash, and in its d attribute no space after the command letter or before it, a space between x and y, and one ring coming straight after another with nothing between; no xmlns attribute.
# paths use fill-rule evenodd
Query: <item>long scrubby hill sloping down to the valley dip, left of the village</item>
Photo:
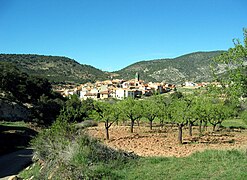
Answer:
<svg viewBox="0 0 247 180"><path fill-rule="evenodd" d="M21 71L45 77L52 83L85 83L107 79L109 73L73 59L35 54L0 54L0 61L11 62Z"/></svg>

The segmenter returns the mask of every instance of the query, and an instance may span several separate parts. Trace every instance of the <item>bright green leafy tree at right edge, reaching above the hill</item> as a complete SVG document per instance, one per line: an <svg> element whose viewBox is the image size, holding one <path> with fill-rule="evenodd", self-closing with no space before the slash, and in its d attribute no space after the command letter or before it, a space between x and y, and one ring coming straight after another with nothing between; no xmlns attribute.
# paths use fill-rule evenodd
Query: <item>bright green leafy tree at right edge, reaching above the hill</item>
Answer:
<svg viewBox="0 0 247 180"><path fill-rule="evenodd" d="M229 97L238 99L247 95L247 29L244 28L244 42L239 39L233 39L234 47L219 57L214 58L214 61L225 67L227 72L224 76L218 76L224 88L224 93ZM218 70L218 66L215 71Z"/></svg>

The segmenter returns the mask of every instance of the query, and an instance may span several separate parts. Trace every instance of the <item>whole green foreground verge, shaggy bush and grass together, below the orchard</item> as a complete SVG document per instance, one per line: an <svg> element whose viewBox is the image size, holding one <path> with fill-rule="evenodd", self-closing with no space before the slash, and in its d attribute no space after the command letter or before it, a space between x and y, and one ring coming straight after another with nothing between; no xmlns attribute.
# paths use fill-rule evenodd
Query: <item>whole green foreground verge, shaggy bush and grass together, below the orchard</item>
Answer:
<svg viewBox="0 0 247 180"><path fill-rule="evenodd" d="M245 151L207 150L183 158L138 157L101 144L64 119L42 131L33 146L39 161L20 174L24 179L247 178Z"/></svg>

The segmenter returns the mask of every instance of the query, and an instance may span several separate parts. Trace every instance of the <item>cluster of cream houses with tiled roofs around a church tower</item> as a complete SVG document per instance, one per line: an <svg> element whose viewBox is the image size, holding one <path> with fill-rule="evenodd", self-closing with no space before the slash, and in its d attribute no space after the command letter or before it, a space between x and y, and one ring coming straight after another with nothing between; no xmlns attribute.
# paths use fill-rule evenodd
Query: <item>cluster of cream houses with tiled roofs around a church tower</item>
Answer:
<svg viewBox="0 0 247 180"><path fill-rule="evenodd" d="M55 89L63 96L78 95L80 99L124 99L127 97L140 98L141 96L151 96L153 94L163 94L176 90L174 84L166 83L144 83L140 80L139 73L131 80L112 79L96 81L95 83L81 84L73 89Z"/></svg>

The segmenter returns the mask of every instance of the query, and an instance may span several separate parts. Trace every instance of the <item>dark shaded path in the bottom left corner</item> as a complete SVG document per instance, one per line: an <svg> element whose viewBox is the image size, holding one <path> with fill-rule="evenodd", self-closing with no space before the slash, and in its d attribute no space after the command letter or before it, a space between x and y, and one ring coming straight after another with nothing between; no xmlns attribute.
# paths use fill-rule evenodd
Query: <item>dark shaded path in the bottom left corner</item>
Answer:
<svg viewBox="0 0 247 180"><path fill-rule="evenodd" d="M32 156L33 150L29 148L0 156L0 179L18 174L32 162Z"/></svg>

